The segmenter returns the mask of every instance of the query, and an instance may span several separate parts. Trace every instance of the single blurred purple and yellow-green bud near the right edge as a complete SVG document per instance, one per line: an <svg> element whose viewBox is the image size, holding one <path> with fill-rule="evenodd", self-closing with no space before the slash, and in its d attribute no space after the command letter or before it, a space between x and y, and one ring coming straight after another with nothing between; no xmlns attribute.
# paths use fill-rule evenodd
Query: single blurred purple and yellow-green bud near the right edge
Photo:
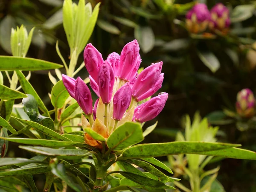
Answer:
<svg viewBox="0 0 256 192"><path fill-rule="evenodd" d="M243 89L237 94L236 111L242 117L254 115L255 98L250 89Z"/></svg>

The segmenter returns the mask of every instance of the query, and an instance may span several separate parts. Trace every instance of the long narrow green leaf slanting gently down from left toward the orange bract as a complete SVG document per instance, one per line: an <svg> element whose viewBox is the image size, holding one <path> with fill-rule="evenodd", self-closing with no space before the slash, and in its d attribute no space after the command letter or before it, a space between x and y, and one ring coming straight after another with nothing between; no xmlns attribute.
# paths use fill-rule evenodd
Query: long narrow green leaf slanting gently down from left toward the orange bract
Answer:
<svg viewBox="0 0 256 192"><path fill-rule="evenodd" d="M43 126L43 125L40 125L39 123L37 122L32 122L32 121L27 121L27 120L24 120L24 119L19 119L17 117L13 117L14 119L17 119L18 121L24 123L25 125L29 125L30 127L34 128L35 130L37 131L40 131L52 138L55 138L56 140L60 140L60 141L70 141L69 139L67 139L66 137L62 136L61 134L58 134L57 132L55 131L52 131L51 129Z"/></svg>

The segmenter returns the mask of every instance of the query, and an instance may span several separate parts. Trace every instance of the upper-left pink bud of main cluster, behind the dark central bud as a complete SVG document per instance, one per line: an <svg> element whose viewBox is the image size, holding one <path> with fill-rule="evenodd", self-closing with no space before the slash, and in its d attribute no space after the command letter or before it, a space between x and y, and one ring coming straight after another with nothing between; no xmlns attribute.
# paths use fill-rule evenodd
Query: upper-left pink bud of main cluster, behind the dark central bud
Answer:
<svg viewBox="0 0 256 192"><path fill-rule="evenodd" d="M98 82L99 67L102 63L102 54L92 44L87 44L84 49L84 64L88 73L96 82Z"/></svg>

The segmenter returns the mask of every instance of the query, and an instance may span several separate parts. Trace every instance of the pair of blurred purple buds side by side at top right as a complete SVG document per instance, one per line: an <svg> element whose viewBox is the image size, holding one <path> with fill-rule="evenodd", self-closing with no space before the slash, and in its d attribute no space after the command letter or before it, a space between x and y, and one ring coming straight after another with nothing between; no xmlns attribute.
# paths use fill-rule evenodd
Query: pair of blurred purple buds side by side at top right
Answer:
<svg viewBox="0 0 256 192"><path fill-rule="evenodd" d="M186 28L191 33L204 32L207 27L226 33L230 26L229 10L222 3L217 3L209 11L204 3L197 3L186 14Z"/></svg>

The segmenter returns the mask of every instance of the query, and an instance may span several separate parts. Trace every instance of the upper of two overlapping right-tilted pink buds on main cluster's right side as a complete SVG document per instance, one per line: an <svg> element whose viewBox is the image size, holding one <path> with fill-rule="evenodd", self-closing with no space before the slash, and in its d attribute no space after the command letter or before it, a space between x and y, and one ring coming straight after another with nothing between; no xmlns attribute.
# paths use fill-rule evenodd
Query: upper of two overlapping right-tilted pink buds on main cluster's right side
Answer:
<svg viewBox="0 0 256 192"><path fill-rule="evenodd" d="M134 98L138 98L139 96L146 93L148 90L154 88L154 85L159 79L162 66L162 61L151 64L139 74L131 89L131 93Z"/></svg>

